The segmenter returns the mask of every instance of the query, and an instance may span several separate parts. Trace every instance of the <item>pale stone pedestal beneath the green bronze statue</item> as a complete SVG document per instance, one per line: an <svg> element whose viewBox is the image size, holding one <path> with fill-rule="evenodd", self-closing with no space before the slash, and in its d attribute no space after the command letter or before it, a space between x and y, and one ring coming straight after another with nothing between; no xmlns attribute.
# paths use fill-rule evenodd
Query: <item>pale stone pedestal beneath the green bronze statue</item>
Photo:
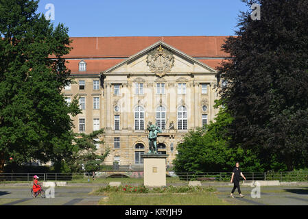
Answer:
<svg viewBox="0 0 308 219"><path fill-rule="evenodd" d="M144 154L143 157L143 181L145 186L166 185L166 158L168 155Z"/></svg>

